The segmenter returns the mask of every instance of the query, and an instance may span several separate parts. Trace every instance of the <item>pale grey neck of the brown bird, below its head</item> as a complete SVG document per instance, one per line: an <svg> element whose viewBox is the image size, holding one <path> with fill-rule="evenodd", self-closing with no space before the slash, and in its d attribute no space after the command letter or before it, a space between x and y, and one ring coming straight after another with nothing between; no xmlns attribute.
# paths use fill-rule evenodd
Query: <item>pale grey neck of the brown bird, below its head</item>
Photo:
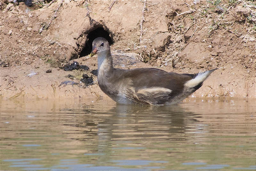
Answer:
<svg viewBox="0 0 256 171"><path fill-rule="evenodd" d="M110 50L98 53L98 75L107 74L111 71L113 71L113 61Z"/></svg>

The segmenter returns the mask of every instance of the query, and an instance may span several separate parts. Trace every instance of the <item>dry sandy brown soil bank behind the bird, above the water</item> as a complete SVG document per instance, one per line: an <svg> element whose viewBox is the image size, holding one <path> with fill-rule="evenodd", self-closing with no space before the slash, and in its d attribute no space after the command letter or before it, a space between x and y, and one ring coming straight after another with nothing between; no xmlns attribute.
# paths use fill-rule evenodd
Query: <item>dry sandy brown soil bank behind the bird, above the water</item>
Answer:
<svg viewBox="0 0 256 171"><path fill-rule="evenodd" d="M253 4L147 1L141 30L144 2L116 1L109 11L112 2L57 1L49 7L27 7L0 0L0 98L108 99L90 73L97 69L97 58L87 56L98 36L113 41L115 67L178 73L220 68L189 98L256 97ZM64 71L70 60L89 70ZM96 82L80 83L84 73ZM65 77L68 74L74 78ZM78 84L60 85L63 81Z"/></svg>

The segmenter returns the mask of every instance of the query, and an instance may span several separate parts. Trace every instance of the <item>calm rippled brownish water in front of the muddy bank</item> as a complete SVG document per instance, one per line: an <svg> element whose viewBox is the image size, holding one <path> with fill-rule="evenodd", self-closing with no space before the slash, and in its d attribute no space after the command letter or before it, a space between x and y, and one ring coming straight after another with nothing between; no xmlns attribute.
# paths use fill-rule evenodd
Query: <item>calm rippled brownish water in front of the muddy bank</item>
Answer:
<svg viewBox="0 0 256 171"><path fill-rule="evenodd" d="M255 101L4 101L0 170L255 170Z"/></svg>

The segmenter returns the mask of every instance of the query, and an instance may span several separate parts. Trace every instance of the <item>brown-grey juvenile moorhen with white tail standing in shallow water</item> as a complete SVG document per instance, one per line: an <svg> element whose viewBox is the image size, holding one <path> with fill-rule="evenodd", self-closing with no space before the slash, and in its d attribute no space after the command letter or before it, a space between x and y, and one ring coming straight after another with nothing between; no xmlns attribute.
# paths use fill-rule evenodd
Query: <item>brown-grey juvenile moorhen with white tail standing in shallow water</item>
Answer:
<svg viewBox="0 0 256 171"><path fill-rule="evenodd" d="M216 69L197 74L179 74L156 68L120 69L113 67L108 41L92 42L90 57L97 54L98 85L118 104L172 105L199 89Z"/></svg>

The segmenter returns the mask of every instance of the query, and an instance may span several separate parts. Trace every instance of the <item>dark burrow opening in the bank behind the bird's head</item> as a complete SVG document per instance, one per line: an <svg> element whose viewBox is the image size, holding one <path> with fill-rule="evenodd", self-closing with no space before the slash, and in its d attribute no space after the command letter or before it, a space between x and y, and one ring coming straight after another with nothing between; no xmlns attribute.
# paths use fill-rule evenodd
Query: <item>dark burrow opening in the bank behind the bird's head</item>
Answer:
<svg viewBox="0 0 256 171"><path fill-rule="evenodd" d="M88 33L87 35L88 41L85 43L85 46L80 53L80 57L89 55L91 53L92 41L94 41L94 39L96 39L97 37L104 37L105 39L108 40L109 45L112 45L114 43L108 31L106 31L103 27L96 28Z"/></svg>

